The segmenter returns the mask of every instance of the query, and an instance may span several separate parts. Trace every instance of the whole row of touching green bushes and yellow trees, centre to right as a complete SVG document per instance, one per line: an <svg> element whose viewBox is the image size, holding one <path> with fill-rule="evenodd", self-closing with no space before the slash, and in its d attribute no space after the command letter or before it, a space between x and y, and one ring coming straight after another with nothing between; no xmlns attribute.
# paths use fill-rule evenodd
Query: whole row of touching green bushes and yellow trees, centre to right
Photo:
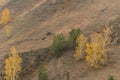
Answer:
<svg viewBox="0 0 120 80"><path fill-rule="evenodd" d="M107 61L106 45L110 39L110 32L110 29L107 27L103 30L103 33L92 34L90 42L87 42L87 38L83 34L80 34L80 29L72 29L69 32L68 39L63 34L54 38L50 52L53 56L60 57L65 48L76 47L74 53L75 59L86 58L87 63L97 69Z"/></svg>

